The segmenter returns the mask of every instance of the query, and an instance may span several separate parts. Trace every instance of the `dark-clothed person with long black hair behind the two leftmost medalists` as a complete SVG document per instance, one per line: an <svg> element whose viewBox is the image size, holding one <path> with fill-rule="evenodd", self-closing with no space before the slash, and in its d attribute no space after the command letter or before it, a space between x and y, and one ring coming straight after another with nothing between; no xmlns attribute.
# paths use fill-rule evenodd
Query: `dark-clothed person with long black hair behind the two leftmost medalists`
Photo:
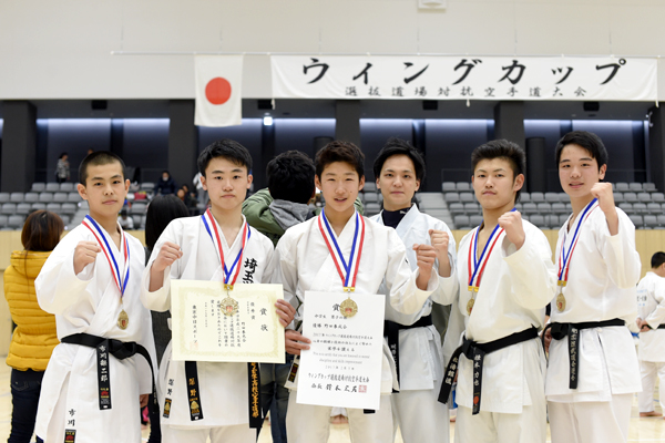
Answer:
<svg viewBox="0 0 665 443"><path fill-rule="evenodd" d="M124 210L124 209L123 209ZM157 195L147 206L145 215L145 259L147 260L152 254L157 238L162 231L168 226L171 220L181 217L190 216L190 212L184 203L174 195ZM147 264L147 261L146 261ZM155 350L157 352L157 365L162 364L162 356L171 341L171 327L168 320L171 313L151 311L153 320L153 334L155 337ZM150 440L149 443L160 443L162 441L162 432L160 429L160 411L157 410L154 399L147 402L150 410Z"/></svg>

